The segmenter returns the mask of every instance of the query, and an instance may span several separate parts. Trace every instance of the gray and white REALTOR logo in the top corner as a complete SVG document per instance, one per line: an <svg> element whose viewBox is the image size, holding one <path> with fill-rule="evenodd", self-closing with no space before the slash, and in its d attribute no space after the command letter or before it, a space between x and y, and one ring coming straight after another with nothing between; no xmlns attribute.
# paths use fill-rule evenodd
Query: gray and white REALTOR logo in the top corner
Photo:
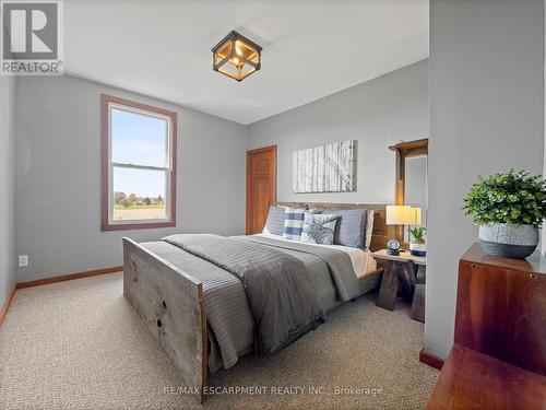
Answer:
<svg viewBox="0 0 546 410"><path fill-rule="evenodd" d="M2 75L62 74L62 0L3 0Z"/></svg>

